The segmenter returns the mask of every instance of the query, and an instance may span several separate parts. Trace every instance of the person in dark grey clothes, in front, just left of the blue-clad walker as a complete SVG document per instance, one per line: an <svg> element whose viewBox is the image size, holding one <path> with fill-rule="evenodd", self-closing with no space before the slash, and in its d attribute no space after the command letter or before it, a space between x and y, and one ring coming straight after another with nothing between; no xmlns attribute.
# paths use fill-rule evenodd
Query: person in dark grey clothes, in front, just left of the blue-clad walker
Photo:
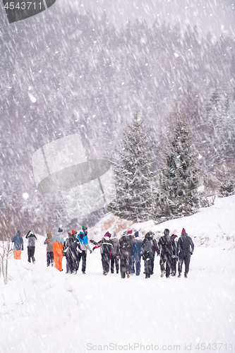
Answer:
<svg viewBox="0 0 235 353"><path fill-rule="evenodd" d="M133 240L128 236L127 232L123 232L117 246L117 256L120 258L121 278L129 278L131 272L131 248Z"/></svg>

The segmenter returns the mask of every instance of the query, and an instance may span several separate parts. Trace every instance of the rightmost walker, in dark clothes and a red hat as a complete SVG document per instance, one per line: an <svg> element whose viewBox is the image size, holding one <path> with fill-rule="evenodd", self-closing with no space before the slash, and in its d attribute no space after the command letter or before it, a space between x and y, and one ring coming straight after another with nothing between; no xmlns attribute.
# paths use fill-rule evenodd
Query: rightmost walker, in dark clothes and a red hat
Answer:
<svg viewBox="0 0 235 353"><path fill-rule="evenodd" d="M184 262L185 272L184 277L188 277L189 263L191 255L193 255L194 244L191 237L188 237L186 230L183 228L181 232L181 237L177 244L177 254L179 254L179 265L178 265L178 277L181 277L182 265Z"/></svg>

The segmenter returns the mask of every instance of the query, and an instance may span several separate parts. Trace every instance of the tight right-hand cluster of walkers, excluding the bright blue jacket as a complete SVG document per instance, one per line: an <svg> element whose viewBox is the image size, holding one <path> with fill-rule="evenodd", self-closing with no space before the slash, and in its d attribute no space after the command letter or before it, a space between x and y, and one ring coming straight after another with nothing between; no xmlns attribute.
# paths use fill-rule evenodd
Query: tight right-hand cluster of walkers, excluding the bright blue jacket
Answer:
<svg viewBox="0 0 235 353"><path fill-rule="evenodd" d="M179 260L178 277L181 277L182 265L185 264L184 277L188 276L189 263L193 254L194 244L191 237L188 237L186 230L183 228L181 237L177 241L176 234L169 235L169 229L164 229L164 235L159 238L157 243L153 232L147 232L145 239L139 237L139 233L132 231L123 232L118 240L116 234L112 236L109 232L104 234L100 241L90 240L94 244L93 251L100 247L102 256L103 274L109 272L109 262L111 263L111 273L114 273L114 263L116 265L116 273L120 273L121 278L130 277L130 275L140 275L141 257L145 264L145 278L153 275L155 253L160 256L161 277L166 275L176 275L176 263Z"/></svg>

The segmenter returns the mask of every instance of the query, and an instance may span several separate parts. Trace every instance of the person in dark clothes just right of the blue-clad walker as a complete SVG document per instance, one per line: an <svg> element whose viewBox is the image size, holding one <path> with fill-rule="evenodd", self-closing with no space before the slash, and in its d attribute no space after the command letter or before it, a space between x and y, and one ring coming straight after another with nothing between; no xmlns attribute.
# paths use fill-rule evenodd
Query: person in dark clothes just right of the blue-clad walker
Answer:
<svg viewBox="0 0 235 353"><path fill-rule="evenodd" d="M159 254L157 242L153 236L153 232L147 232L141 247L143 261L145 262L145 278L150 278L150 275L153 274L155 252L157 251L157 254Z"/></svg>

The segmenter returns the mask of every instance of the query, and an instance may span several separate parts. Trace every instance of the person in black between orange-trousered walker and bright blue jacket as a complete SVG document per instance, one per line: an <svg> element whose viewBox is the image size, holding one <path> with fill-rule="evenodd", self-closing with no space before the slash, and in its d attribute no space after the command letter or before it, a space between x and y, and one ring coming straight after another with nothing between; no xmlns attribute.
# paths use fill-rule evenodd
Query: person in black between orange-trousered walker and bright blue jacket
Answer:
<svg viewBox="0 0 235 353"><path fill-rule="evenodd" d="M68 233L64 243L64 254L66 256L66 273L76 274L78 271L78 254L82 252L80 241L76 237L77 232Z"/></svg>

